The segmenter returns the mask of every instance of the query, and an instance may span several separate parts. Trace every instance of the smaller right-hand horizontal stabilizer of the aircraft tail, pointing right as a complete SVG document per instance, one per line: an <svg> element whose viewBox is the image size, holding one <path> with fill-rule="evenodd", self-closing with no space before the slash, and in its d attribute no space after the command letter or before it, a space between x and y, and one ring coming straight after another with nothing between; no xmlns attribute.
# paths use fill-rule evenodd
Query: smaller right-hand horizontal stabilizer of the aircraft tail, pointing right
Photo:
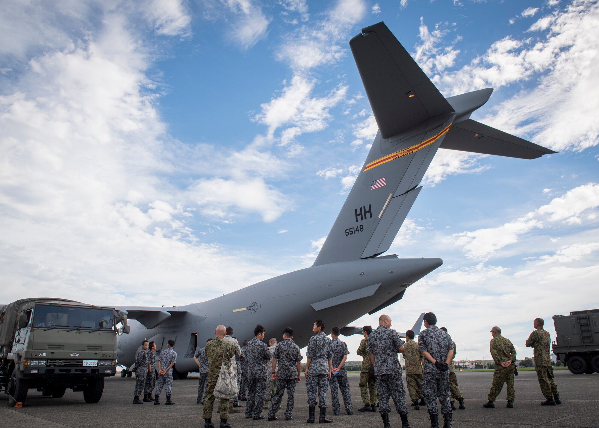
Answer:
<svg viewBox="0 0 599 428"><path fill-rule="evenodd" d="M556 153L524 138L516 137L491 126L467 119L454 123L441 143L441 149L485 155L509 156L510 158L536 159Z"/></svg>

